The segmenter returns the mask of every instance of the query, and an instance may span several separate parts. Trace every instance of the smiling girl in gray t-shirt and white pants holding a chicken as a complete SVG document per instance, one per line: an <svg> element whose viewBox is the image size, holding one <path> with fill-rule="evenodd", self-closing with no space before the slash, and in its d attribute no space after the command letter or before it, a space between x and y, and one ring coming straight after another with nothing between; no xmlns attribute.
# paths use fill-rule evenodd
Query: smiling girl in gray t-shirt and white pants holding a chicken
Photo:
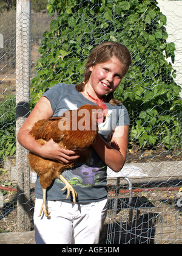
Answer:
<svg viewBox="0 0 182 256"><path fill-rule="evenodd" d="M69 163L78 158L75 151L60 148L53 140L44 146L29 135L39 119L61 116L66 109L104 101L110 118L99 127L99 134L92 145L90 163L79 163L62 175L73 185L78 198L66 199L59 179L47 189L47 205L50 219L44 214L38 217L42 205L42 188L39 177L35 186L35 240L36 243L83 244L99 243L99 233L107 213L106 170L109 166L118 172L126 160L129 116L121 102L113 98L113 91L120 85L131 64L126 46L116 42L101 43L90 53L79 85L58 84L39 99L32 113L18 133L18 141L24 148L44 158Z"/></svg>

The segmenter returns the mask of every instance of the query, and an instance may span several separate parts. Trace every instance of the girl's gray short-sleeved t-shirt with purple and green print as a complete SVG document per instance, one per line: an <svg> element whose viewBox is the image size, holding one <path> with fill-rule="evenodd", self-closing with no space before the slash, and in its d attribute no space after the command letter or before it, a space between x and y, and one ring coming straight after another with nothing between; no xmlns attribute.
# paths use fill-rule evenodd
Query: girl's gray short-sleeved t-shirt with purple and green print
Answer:
<svg viewBox="0 0 182 256"><path fill-rule="evenodd" d="M77 109L85 104L96 105L89 99L86 99L83 94L76 90L75 85L58 84L46 91L43 96L49 99L53 117L61 116L66 110ZM116 126L129 125L129 115L126 107L123 104L111 105L106 103L109 110L110 118L99 124L99 134L105 140L110 140L113 130ZM92 149L90 163L78 163L72 169L67 169L62 172L73 188L78 193L77 202L95 202L103 200L107 197L107 166L99 158L98 154ZM48 200L72 201L72 195L66 199L67 191L61 191L64 188L64 183L60 179L55 179L47 188ZM39 182L39 177L35 185L36 198L42 199L42 187Z"/></svg>

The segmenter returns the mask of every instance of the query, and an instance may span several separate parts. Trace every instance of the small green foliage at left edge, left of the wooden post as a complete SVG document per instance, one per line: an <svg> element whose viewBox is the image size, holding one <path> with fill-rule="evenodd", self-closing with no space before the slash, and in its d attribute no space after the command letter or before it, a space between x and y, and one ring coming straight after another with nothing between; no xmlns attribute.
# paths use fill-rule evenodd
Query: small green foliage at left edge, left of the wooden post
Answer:
<svg viewBox="0 0 182 256"><path fill-rule="evenodd" d="M8 96L0 104L0 162L16 151L15 96Z"/></svg>

